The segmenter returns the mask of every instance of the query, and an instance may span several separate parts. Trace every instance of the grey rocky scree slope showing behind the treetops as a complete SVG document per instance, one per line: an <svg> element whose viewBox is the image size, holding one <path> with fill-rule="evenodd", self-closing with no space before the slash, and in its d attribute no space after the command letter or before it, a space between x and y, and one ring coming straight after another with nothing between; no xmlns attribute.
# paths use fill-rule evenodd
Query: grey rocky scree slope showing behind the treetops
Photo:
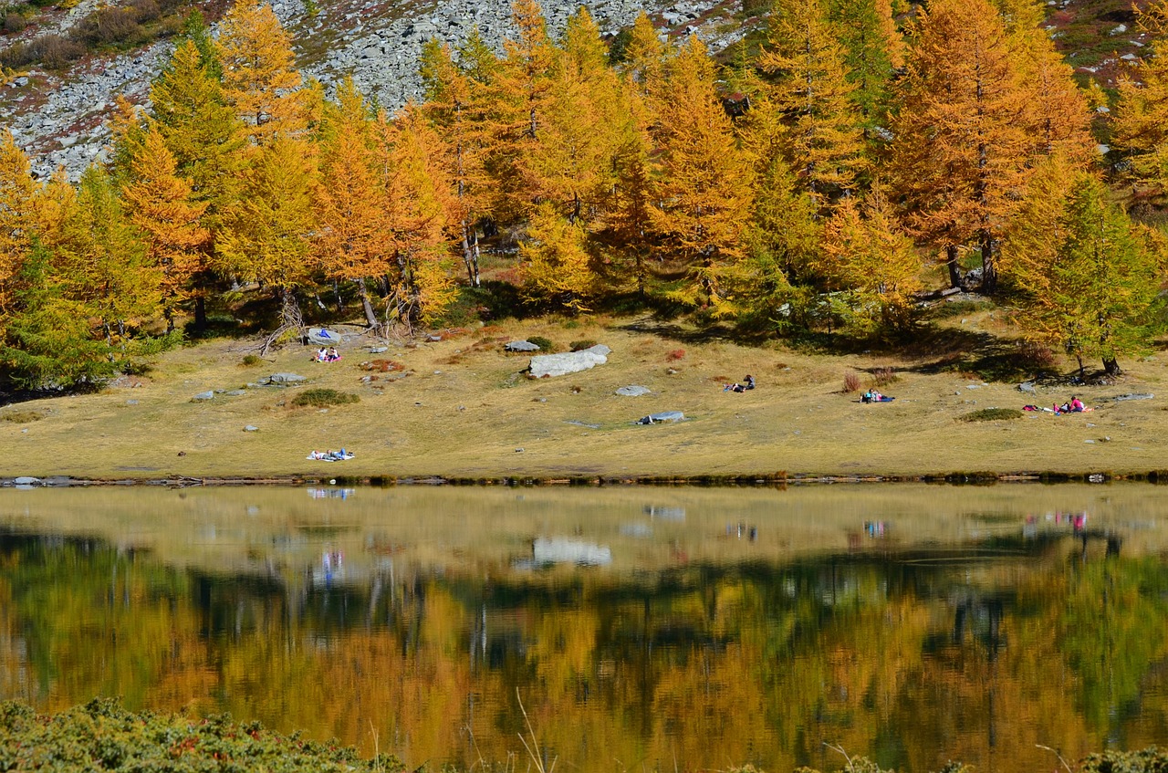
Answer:
<svg viewBox="0 0 1168 773"><path fill-rule="evenodd" d="M33 34L68 32L97 1L50 13L23 35L0 37L0 51ZM576 0L545 0L551 30L562 30L578 5ZM715 49L743 35L743 25L734 19L738 0L588 0L584 5L606 34L632 23L645 7L663 33L694 32ZM502 41L514 32L510 0L310 0L308 8L301 0L272 0L272 7L294 36L306 76L332 86L352 74L366 93L390 109L419 97L417 60L425 41L437 37L458 44L477 27L501 50ZM13 132L37 175L63 166L76 177L106 152L105 123L114 98L123 95L145 102L151 78L171 48L161 41L128 54L88 57L68 71L30 70L12 78L0 85L0 128Z"/></svg>

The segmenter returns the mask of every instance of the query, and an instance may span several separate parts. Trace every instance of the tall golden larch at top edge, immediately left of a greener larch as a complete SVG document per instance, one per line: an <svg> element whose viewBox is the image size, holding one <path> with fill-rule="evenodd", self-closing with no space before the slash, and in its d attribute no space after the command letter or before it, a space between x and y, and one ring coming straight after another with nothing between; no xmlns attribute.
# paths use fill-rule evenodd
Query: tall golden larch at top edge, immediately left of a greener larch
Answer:
<svg viewBox="0 0 1168 773"><path fill-rule="evenodd" d="M778 0L759 68L767 99L786 125L785 154L820 207L857 184L868 166L863 116L853 102L844 49L819 0Z"/></svg>

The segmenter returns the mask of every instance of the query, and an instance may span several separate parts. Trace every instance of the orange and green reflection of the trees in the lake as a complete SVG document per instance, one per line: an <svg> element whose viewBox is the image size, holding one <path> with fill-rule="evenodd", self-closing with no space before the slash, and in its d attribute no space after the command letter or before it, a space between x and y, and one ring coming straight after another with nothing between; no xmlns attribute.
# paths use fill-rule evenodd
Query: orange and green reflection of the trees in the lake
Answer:
<svg viewBox="0 0 1168 773"><path fill-rule="evenodd" d="M367 751L371 723L411 767L522 752L520 699L548 760L585 771L834 769L825 743L1016 771L1051 765L1037 744L1168 739L1159 557L1085 527L848 544L632 573L390 559L326 583L7 530L0 695L230 711Z"/></svg>

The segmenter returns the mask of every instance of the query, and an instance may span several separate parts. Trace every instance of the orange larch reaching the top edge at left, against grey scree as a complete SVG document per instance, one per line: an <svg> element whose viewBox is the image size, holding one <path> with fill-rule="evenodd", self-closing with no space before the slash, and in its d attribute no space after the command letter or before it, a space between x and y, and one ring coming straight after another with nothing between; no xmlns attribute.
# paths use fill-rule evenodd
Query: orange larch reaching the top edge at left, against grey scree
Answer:
<svg viewBox="0 0 1168 773"><path fill-rule="evenodd" d="M220 22L215 50L223 68L223 93L244 121L248 137L266 145L277 134L297 134L308 123L292 36L270 5L237 0Z"/></svg>

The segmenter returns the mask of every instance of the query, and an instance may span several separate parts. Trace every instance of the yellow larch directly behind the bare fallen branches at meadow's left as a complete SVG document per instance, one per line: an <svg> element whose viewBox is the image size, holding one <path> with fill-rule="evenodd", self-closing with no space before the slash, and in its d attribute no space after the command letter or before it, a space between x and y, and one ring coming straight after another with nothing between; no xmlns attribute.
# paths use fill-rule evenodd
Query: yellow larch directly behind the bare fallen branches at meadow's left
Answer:
<svg viewBox="0 0 1168 773"><path fill-rule="evenodd" d="M310 235L317 155L303 139L276 135L251 154L241 196L224 213L216 269L272 288L280 300L279 335L303 327L298 288L315 270Z"/></svg>

